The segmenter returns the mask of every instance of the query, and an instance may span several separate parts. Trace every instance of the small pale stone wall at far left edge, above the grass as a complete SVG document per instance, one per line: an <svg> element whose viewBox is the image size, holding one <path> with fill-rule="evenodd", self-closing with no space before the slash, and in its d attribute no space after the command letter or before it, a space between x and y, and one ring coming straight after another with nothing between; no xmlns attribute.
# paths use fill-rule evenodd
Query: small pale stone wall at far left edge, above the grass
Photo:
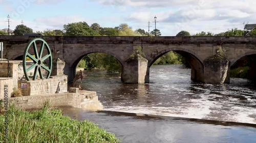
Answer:
<svg viewBox="0 0 256 143"><path fill-rule="evenodd" d="M13 92L12 86L13 78L8 77L0 77L0 99L4 99L5 95L5 85L8 85L8 98L11 97L11 93Z"/></svg>

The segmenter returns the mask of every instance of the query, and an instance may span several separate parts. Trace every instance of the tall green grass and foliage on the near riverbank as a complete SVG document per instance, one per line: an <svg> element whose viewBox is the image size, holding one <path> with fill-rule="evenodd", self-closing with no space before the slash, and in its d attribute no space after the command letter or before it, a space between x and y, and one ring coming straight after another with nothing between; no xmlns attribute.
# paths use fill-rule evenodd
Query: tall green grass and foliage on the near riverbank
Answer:
<svg viewBox="0 0 256 143"><path fill-rule="evenodd" d="M11 105L8 114L7 142L120 142L90 121L62 116L45 104L41 110L24 111ZM4 142L5 117L0 115L0 142Z"/></svg>

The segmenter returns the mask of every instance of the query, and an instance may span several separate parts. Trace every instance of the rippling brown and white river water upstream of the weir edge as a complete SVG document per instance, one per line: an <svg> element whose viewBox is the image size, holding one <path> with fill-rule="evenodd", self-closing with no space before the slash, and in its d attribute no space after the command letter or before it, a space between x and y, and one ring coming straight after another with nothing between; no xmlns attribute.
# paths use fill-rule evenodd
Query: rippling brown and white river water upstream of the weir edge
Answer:
<svg viewBox="0 0 256 143"><path fill-rule="evenodd" d="M256 124L256 85L247 79L196 83L181 65L152 66L148 84L125 84L103 71L86 74L81 86L97 92L104 110Z"/></svg>

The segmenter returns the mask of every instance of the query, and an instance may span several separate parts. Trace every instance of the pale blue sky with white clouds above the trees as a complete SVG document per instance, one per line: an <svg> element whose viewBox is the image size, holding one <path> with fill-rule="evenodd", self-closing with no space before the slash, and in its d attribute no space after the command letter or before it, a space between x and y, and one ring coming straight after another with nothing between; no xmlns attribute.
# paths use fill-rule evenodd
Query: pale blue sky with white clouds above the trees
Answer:
<svg viewBox="0 0 256 143"><path fill-rule="evenodd" d="M0 0L0 29L22 24L33 32L63 30L63 25L85 21L89 25L115 27L127 23L136 30L160 30L162 36L218 34L238 28L243 22L256 23L255 0ZM154 17L156 19L156 25Z"/></svg>

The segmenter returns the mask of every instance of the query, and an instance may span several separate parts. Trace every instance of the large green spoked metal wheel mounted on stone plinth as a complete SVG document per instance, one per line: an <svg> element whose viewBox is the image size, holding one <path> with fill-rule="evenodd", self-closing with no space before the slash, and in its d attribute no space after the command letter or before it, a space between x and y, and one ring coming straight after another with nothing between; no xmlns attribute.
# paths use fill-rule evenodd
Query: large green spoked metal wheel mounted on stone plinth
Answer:
<svg viewBox="0 0 256 143"><path fill-rule="evenodd" d="M37 48L37 45L40 45L40 49ZM39 46L38 46L39 47ZM39 50L39 52L38 52ZM30 54L30 53L34 53ZM33 61L30 62L28 59ZM27 66L31 64L31 66ZM47 64L48 63L48 64ZM33 80L36 80L37 73L41 79L49 78L52 72L52 53L49 45L44 39L35 38L30 40L28 43L23 56L23 70L27 80L31 80L28 72L34 69ZM43 72L45 75L43 75Z"/></svg>

